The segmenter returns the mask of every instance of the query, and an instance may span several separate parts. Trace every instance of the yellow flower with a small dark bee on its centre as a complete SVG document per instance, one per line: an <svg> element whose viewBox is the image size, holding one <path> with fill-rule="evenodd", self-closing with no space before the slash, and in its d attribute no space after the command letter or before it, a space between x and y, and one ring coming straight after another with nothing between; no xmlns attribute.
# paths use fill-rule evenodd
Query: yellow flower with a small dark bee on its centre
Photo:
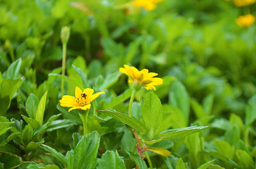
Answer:
<svg viewBox="0 0 256 169"><path fill-rule="evenodd" d="M61 107L72 107L68 110L70 112L74 109L82 109L87 110L91 108L91 103L100 96L100 94L103 94L105 92L97 92L93 94L93 89L86 88L82 92L79 87L76 87L75 91L75 97L73 96L62 96L60 100Z"/></svg>

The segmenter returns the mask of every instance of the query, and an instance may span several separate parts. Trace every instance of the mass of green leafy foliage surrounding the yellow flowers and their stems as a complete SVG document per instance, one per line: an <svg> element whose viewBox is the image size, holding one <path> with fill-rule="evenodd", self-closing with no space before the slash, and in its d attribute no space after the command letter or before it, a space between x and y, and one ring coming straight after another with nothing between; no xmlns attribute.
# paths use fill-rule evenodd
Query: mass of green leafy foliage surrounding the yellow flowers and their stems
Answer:
<svg viewBox="0 0 256 169"><path fill-rule="evenodd" d="M159 131L209 126L155 143L172 155L148 153L154 167L255 168L255 25L235 22L249 9L255 15L255 4L163 0L152 11L120 8L129 2L0 0L0 168L147 168L131 128L95 111L127 114L124 64L164 79L156 90ZM62 26L71 30L67 76L60 75ZM86 137L78 112L58 105L61 79L68 95L76 86L106 92L93 103ZM138 121L148 93L140 89L132 105Z"/></svg>

